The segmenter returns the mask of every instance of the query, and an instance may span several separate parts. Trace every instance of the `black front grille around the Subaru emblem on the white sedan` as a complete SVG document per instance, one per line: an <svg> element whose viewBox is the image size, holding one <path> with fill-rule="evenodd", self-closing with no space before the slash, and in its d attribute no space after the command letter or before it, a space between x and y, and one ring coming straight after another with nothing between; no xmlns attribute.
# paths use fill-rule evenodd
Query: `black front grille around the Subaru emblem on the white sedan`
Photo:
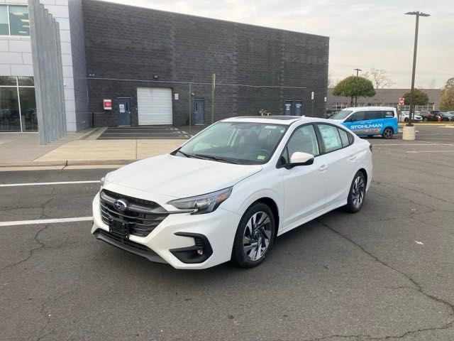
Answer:
<svg viewBox="0 0 454 341"><path fill-rule="evenodd" d="M114 202L118 199L128 201L129 205L123 212L114 207ZM104 224L110 225L111 220L123 222L128 225L129 233L138 237L148 236L169 215L164 207L156 202L128 197L110 190L102 190L100 200Z"/></svg>

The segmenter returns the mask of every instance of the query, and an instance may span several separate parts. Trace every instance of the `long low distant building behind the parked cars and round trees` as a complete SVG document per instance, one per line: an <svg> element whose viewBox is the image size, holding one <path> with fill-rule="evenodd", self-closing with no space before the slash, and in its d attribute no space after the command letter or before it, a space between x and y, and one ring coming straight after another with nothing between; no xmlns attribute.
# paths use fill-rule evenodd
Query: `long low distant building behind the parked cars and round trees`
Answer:
<svg viewBox="0 0 454 341"><path fill-rule="evenodd" d="M415 110L436 110L440 105L440 89L421 89L428 94L427 105L417 105ZM326 109L337 112L346 107L350 107L350 97L334 96L333 89L328 89L328 98L326 99ZM358 97L358 107L397 107L399 97L409 89L377 89L374 97ZM402 106L402 110L409 110L408 105Z"/></svg>

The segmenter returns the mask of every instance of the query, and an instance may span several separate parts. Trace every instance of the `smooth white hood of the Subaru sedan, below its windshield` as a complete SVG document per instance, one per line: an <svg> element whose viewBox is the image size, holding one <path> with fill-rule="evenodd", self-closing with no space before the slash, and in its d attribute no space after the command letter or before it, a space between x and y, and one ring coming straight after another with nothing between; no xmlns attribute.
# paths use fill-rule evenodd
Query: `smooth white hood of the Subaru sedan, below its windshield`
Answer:
<svg viewBox="0 0 454 341"><path fill-rule="evenodd" d="M261 170L260 165L235 165L167 154L119 168L106 176L106 183L145 193L192 197L228 188Z"/></svg>

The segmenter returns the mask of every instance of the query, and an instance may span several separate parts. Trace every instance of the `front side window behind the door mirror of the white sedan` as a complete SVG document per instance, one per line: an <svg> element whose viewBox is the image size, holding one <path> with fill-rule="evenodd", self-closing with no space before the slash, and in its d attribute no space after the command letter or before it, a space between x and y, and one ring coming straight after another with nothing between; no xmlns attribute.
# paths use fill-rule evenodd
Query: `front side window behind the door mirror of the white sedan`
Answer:
<svg viewBox="0 0 454 341"><path fill-rule="evenodd" d="M319 142L313 125L300 126L294 131L282 153L281 163L289 163L292 154L297 151L309 153L313 156L320 155Z"/></svg>

